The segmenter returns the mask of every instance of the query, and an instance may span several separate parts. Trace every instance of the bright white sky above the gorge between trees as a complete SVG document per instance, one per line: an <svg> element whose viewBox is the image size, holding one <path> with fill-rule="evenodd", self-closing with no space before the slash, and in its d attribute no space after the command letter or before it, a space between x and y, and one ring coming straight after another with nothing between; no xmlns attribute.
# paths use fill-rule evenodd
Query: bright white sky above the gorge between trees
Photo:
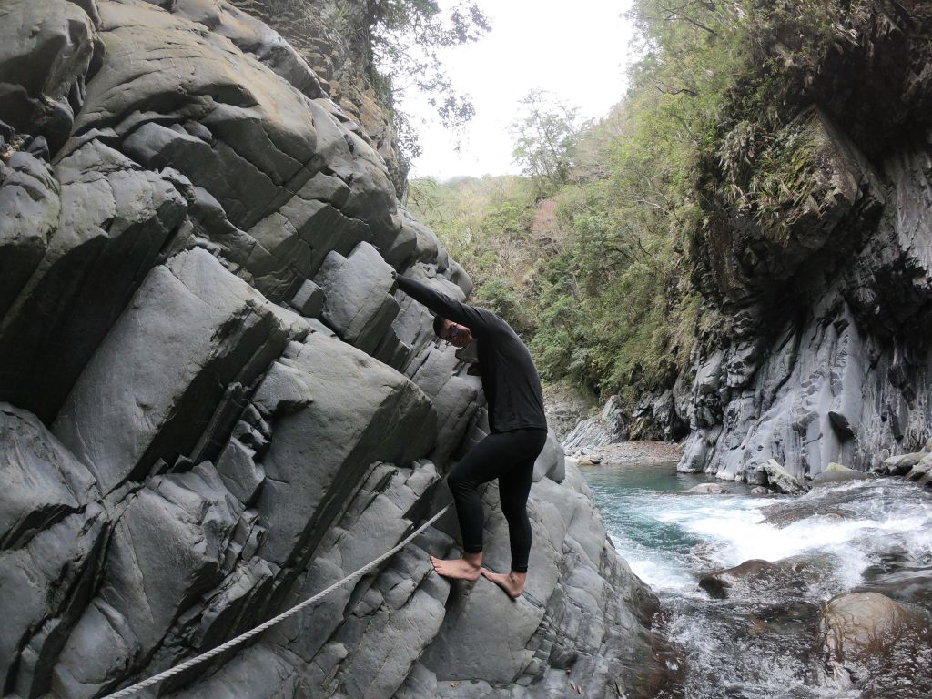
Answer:
<svg viewBox="0 0 932 699"><path fill-rule="evenodd" d="M455 5L446 0L442 7ZM410 96L424 153L411 177L517 173L508 125L518 101L535 88L580 108L583 118L604 117L621 102L633 36L620 17L631 0L478 0L492 31L479 42L441 55L454 86L473 98L476 115L455 149L455 137L431 108Z"/></svg>

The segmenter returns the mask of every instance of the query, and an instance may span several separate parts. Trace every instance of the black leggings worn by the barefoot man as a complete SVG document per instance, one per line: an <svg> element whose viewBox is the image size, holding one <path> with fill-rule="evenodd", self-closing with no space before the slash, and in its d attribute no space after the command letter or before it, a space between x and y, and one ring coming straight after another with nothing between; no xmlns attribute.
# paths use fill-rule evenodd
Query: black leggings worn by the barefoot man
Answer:
<svg viewBox="0 0 932 699"><path fill-rule="evenodd" d="M459 530L467 554L482 551L483 514L478 488L498 478L501 512L508 520L512 570L528 571L533 535L526 506L534 461L546 440L547 431L538 428L492 432L453 467L446 483L457 503Z"/></svg>

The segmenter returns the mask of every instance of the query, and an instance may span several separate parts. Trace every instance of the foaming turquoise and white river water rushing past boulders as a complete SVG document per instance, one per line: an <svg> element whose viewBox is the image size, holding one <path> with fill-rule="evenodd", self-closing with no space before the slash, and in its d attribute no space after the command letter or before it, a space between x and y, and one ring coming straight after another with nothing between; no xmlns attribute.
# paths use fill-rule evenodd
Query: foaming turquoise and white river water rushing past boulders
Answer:
<svg viewBox="0 0 932 699"><path fill-rule="evenodd" d="M615 547L661 597L658 626L685 665L682 686L658 696L855 699L861 692L836 682L817 651L820 605L863 589L896 596L891 584L907 574L927 575L929 594L906 601L932 605L932 496L911 484L859 481L790 498L752 496L745 484L684 494L713 479L672 464L583 475ZM706 573L751 559L791 559L806 574L728 599L699 588ZM898 697L925 692L907 685Z"/></svg>

